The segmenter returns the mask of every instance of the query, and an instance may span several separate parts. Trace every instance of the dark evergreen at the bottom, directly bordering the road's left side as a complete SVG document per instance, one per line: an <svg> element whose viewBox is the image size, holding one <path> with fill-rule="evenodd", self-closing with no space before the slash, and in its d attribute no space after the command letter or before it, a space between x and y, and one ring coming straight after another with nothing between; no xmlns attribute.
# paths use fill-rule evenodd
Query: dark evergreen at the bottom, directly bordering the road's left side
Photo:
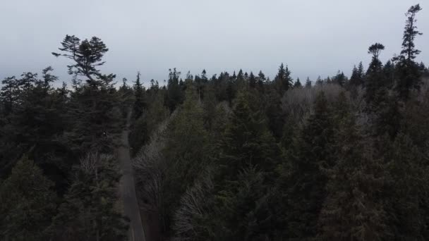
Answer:
<svg viewBox="0 0 429 241"><path fill-rule="evenodd" d="M120 175L115 159L87 154L49 227L54 240L124 240L126 218L116 199Z"/></svg>

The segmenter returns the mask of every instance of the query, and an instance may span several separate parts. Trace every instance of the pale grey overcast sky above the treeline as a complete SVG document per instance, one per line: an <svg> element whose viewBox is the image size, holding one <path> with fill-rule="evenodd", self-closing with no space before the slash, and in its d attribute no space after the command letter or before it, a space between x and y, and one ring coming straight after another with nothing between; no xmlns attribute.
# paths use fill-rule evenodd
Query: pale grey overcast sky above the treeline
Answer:
<svg viewBox="0 0 429 241"><path fill-rule="evenodd" d="M334 75L381 42L386 61L401 50L404 13L413 0L0 0L0 78L52 66L68 82L68 60L55 58L66 35L100 37L104 73L118 80L167 79L169 68L209 75L262 70L279 63L294 78ZM429 4L421 1L416 46L429 63Z"/></svg>

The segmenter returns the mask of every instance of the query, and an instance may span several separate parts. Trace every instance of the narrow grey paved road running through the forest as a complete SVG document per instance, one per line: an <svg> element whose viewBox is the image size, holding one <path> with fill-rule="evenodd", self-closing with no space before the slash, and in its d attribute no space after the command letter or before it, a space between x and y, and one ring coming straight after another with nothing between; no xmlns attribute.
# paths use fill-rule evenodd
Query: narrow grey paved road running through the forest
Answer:
<svg viewBox="0 0 429 241"><path fill-rule="evenodd" d="M138 208L137 197L135 195L135 183L133 166L131 165L130 147L128 144L128 134L131 121L131 110L128 111L126 128L122 131L121 146L118 149L118 157L121 162L121 185L120 192L123 202L123 211L130 218L130 228L128 230L128 240L145 241L145 231L143 230L140 210Z"/></svg>

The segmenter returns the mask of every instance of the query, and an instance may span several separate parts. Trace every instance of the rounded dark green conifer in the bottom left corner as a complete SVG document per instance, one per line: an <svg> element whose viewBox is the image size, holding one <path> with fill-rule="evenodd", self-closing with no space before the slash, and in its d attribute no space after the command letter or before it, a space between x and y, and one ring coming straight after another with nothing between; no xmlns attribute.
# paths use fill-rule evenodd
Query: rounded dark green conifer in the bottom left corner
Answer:
<svg viewBox="0 0 429 241"><path fill-rule="evenodd" d="M0 185L1 240L47 240L56 212L54 183L23 156Z"/></svg>

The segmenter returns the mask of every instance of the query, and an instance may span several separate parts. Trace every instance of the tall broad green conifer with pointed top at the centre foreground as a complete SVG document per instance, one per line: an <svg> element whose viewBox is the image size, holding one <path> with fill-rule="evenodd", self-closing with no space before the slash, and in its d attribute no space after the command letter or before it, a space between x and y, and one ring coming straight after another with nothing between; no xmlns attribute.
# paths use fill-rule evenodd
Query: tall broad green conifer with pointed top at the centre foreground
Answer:
<svg viewBox="0 0 429 241"><path fill-rule="evenodd" d="M215 187L220 223L216 238L243 240L270 237L268 183L272 182L279 149L260 113L251 109L248 94L238 94L231 119L219 144Z"/></svg>

